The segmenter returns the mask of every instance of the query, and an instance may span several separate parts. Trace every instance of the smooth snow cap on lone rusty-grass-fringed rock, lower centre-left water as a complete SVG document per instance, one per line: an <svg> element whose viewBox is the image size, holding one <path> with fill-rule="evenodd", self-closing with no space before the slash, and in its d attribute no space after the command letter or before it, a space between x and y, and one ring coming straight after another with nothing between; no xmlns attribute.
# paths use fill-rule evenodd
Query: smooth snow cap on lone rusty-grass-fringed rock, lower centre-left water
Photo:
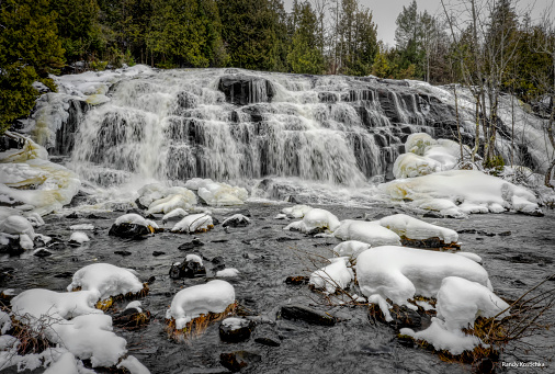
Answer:
<svg viewBox="0 0 555 374"><path fill-rule="evenodd" d="M181 330L193 318L208 313L223 313L234 303L234 286L225 281L215 280L178 292L166 313L166 318L175 319L175 329Z"/></svg>

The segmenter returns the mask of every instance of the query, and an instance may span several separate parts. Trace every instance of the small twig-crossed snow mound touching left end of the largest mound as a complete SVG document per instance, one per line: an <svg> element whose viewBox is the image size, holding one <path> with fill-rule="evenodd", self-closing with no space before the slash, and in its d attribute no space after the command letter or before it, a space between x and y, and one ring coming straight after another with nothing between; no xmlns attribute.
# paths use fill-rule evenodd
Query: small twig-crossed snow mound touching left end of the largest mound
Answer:
<svg viewBox="0 0 555 374"><path fill-rule="evenodd" d="M347 267L349 263L347 257L329 259L329 261L331 262L329 265L310 274L308 284L328 294L335 294L338 287L346 290L349 286L354 280L354 273Z"/></svg>

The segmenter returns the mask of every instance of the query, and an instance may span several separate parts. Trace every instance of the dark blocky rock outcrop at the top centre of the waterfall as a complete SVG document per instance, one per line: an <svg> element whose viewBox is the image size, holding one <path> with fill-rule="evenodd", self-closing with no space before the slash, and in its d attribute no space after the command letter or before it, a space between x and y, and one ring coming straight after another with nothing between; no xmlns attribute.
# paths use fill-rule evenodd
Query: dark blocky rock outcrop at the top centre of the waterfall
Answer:
<svg viewBox="0 0 555 374"><path fill-rule="evenodd" d="M275 94L269 80L240 73L222 77L218 90L224 92L228 103L235 105L271 102Z"/></svg>

